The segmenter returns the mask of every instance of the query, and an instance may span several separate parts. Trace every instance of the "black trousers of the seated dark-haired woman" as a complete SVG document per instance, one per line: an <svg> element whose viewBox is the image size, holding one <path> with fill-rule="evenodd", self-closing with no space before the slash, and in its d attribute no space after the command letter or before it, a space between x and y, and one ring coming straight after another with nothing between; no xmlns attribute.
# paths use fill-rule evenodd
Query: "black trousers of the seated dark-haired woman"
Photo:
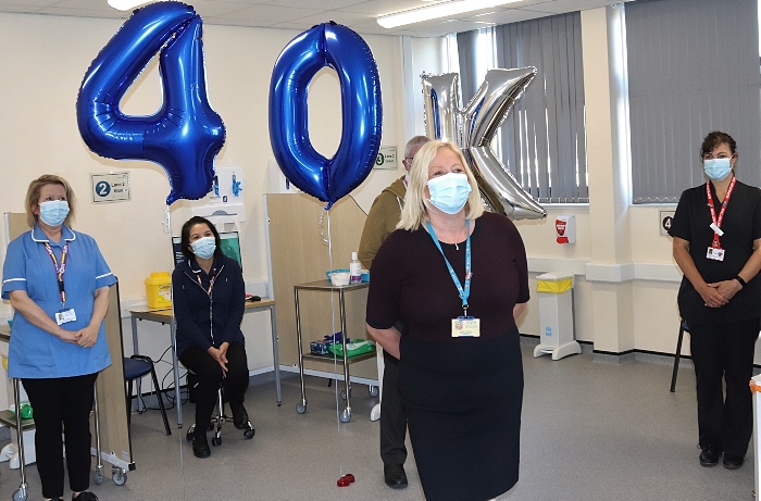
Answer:
<svg viewBox="0 0 761 501"><path fill-rule="evenodd" d="M199 347L190 347L179 354L179 361L198 376L196 387L196 436L205 436L211 413L216 405L216 391L222 384L225 398L232 404L242 404L248 389L248 360L242 342L227 348L227 376L214 358Z"/></svg>

